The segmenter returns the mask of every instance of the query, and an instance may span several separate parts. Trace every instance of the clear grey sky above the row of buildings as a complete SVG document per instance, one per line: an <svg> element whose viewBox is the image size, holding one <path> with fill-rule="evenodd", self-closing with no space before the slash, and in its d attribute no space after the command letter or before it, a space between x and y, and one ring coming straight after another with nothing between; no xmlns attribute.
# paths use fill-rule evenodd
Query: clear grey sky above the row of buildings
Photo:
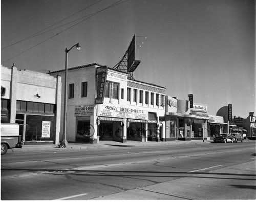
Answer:
<svg viewBox="0 0 256 202"><path fill-rule="evenodd" d="M255 110L254 0L2 0L1 64L40 72L98 63L113 68L135 34L134 72L166 95Z"/></svg>

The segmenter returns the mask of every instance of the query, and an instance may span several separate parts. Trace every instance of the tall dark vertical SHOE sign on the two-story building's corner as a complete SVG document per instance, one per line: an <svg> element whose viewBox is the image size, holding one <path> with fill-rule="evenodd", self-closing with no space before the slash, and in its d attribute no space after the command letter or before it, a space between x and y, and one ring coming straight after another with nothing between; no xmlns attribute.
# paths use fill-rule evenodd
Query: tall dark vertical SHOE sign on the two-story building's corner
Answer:
<svg viewBox="0 0 256 202"><path fill-rule="evenodd" d="M96 69L97 75L97 97L96 104L102 104L104 100L106 75L108 75L108 66L100 66Z"/></svg>

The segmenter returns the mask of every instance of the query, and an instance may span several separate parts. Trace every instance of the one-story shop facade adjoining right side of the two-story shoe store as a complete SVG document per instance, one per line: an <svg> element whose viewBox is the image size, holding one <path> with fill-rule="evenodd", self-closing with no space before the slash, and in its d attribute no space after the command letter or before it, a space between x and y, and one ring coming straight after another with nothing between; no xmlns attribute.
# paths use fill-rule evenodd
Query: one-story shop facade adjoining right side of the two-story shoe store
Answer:
<svg viewBox="0 0 256 202"><path fill-rule="evenodd" d="M188 107L188 100L166 97L166 139L167 140L207 140L206 104Z"/></svg>

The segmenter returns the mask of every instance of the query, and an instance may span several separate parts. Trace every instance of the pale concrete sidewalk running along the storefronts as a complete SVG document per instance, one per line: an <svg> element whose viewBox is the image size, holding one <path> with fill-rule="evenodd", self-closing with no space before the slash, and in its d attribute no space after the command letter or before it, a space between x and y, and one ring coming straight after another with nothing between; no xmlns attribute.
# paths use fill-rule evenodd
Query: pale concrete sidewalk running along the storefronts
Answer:
<svg viewBox="0 0 256 202"><path fill-rule="evenodd" d="M191 141L168 141L168 142L138 142L127 141L126 143L115 141L100 141L98 144L69 143L67 148L58 148L57 145L23 145L22 148L8 149L7 153L36 152L36 151L59 151L59 150L85 150L85 149L113 149L114 147L138 147L138 146L166 146L166 145L184 145L184 144L209 144L212 140L191 140Z"/></svg>

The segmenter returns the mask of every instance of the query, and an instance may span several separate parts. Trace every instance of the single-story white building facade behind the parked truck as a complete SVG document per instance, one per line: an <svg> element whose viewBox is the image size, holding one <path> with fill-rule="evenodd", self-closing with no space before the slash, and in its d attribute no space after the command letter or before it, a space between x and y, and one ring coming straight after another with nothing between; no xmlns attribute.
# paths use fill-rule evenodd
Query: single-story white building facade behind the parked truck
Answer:
<svg viewBox="0 0 256 202"><path fill-rule="evenodd" d="M61 78L1 68L1 122L18 123L24 144L58 144Z"/></svg>

